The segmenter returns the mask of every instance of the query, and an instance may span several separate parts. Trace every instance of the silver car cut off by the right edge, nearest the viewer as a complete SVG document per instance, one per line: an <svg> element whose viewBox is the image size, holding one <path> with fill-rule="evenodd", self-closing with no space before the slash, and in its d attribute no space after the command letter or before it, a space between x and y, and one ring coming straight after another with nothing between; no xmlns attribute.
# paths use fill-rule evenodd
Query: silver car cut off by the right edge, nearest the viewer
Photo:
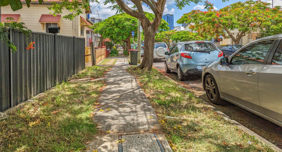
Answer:
<svg viewBox="0 0 282 152"><path fill-rule="evenodd" d="M257 39L202 73L209 101L229 101L282 127L282 34Z"/></svg>

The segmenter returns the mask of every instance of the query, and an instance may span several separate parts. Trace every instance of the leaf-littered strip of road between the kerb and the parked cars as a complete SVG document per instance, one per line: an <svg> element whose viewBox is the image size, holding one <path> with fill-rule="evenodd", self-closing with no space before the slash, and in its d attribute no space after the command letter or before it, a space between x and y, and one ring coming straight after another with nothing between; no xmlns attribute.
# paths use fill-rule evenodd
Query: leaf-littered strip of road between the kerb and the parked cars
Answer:
<svg viewBox="0 0 282 152"><path fill-rule="evenodd" d="M264 119L255 114L246 111L232 103L226 102L225 106L215 105L209 102L206 92L202 88L202 78L201 76L188 76L187 80L179 81L177 79L177 74L170 72L169 74L164 71L164 59L154 60L153 67L158 69L163 74L166 74L176 82L180 83L183 87L187 88L189 91L193 92L196 96L199 96L204 101L208 102L215 108L219 109L231 119L236 120L245 127L257 133L259 136L265 138L266 140L273 142L274 145L282 149L282 127Z"/></svg>

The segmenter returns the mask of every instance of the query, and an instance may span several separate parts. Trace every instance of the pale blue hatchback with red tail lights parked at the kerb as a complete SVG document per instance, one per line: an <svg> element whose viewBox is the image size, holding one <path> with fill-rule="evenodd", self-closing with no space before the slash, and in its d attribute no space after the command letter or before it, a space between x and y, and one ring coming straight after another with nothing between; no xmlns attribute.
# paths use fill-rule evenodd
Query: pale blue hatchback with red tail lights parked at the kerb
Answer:
<svg viewBox="0 0 282 152"><path fill-rule="evenodd" d="M165 55L165 72L174 71L179 80L191 74L202 74L207 64L223 57L220 51L210 41L186 41L175 44Z"/></svg>

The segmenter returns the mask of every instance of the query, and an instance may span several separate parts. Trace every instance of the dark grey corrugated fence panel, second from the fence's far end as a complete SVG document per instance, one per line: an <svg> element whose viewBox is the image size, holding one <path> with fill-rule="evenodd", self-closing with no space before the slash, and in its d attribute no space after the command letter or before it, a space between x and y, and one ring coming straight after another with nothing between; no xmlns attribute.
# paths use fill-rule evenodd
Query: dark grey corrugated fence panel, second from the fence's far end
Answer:
<svg viewBox="0 0 282 152"><path fill-rule="evenodd" d="M74 74L74 44L73 36L56 35L56 82L66 81Z"/></svg>

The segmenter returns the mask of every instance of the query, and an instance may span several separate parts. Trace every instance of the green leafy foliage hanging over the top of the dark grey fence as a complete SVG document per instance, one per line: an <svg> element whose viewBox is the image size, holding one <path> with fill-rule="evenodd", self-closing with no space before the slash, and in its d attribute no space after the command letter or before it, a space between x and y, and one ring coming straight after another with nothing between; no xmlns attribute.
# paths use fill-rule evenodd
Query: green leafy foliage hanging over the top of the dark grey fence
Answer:
<svg viewBox="0 0 282 152"><path fill-rule="evenodd" d="M15 44L10 41L9 36L8 36L8 28L13 29L13 30L19 30L23 32L24 36L26 37L27 41L30 40L30 34L31 30L29 30L24 23L20 22L17 23L14 21L13 18L6 18L6 21L11 21L9 23L0 23L0 39L2 42L9 48L11 51L14 53L17 51L17 48Z"/></svg>

